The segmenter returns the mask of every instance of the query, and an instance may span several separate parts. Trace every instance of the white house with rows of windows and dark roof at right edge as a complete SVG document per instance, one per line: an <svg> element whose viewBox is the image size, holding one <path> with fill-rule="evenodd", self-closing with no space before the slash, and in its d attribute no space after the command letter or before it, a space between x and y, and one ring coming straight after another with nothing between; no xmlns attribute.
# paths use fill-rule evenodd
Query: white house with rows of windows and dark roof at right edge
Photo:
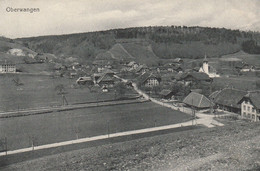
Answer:
<svg viewBox="0 0 260 171"><path fill-rule="evenodd" d="M241 104L242 118L248 118L252 121L260 120L260 91L249 92L238 104Z"/></svg>

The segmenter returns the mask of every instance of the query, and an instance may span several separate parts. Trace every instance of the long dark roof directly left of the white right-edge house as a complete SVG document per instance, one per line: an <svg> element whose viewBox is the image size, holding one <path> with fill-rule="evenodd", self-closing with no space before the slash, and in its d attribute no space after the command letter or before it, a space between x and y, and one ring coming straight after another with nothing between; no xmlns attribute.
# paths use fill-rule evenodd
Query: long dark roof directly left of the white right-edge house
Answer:
<svg viewBox="0 0 260 171"><path fill-rule="evenodd" d="M246 94L247 92L243 90L225 88L216 95L214 102L225 106L240 108L238 102Z"/></svg>

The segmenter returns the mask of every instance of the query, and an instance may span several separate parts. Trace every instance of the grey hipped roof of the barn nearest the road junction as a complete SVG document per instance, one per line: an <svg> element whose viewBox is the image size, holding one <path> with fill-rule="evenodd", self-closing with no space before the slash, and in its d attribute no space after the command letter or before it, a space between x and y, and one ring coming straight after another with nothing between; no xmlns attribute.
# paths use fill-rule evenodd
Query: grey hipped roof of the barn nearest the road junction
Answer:
<svg viewBox="0 0 260 171"><path fill-rule="evenodd" d="M191 92L185 97L183 103L196 108L209 108L211 106L211 102L207 97L196 92Z"/></svg>

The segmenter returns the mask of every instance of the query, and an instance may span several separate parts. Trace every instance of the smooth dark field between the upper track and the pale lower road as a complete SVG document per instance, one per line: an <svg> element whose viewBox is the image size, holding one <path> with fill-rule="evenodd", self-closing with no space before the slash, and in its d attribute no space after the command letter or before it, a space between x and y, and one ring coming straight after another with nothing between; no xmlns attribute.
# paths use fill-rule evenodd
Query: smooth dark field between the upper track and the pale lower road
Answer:
<svg viewBox="0 0 260 171"><path fill-rule="evenodd" d="M91 137L115 132L175 124L190 116L152 102L103 106L0 119L0 138L7 137L8 149Z"/></svg>

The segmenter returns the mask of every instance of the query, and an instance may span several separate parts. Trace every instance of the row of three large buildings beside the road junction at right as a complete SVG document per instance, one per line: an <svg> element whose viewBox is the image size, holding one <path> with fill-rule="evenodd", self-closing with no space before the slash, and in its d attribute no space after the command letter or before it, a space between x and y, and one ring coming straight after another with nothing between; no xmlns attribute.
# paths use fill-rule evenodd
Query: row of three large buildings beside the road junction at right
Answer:
<svg viewBox="0 0 260 171"><path fill-rule="evenodd" d="M217 109L237 113L242 118L260 121L260 91L243 91L225 88L213 92L209 98L191 92L183 103L197 110L215 107Z"/></svg>

